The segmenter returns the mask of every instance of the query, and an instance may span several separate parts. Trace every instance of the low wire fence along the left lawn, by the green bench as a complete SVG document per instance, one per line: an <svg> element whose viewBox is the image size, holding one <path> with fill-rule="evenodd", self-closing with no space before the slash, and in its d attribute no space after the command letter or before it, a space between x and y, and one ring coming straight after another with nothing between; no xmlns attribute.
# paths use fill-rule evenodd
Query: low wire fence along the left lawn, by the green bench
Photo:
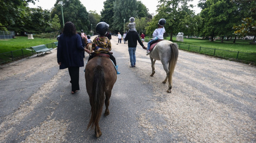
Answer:
<svg viewBox="0 0 256 143"><path fill-rule="evenodd" d="M54 43L45 44L47 48L56 48ZM10 63L12 61L29 57L36 54L32 48L25 48L15 51L8 51L6 53L0 53L0 64Z"/></svg>

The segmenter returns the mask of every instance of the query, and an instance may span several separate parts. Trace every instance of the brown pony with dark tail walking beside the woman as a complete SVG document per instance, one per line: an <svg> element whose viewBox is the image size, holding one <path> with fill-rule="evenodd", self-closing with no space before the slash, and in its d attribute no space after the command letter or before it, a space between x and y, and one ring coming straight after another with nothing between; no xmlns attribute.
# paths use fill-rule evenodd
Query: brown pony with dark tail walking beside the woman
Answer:
<svg viewBox="0 0 256 143"><path fill-rule="evenodd" d="M112 61L106 57L94 57L85 67L86 89L90 98L91 118L87 126L87 130L95 126L95 135L102 135L98 122L102 113L105 99L105 116L109 115L108 105L112 88L116 82L116 69Z"/></svg>

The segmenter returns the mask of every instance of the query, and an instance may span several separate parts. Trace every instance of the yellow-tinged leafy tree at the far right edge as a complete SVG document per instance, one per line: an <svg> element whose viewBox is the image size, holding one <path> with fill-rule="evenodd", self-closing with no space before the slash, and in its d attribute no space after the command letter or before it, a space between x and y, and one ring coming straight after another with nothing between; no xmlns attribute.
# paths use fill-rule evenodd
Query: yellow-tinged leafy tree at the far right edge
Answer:
<svg viewBox="0 0 256 143"><path fill-rule="evenodd" d="M252 42L255 43L256 39L256 20L252 17L246 17L242 19L242 24L238 26L234 26L233 29L236 31L234 34L238 34L241 36L254 36Z"/></svg>

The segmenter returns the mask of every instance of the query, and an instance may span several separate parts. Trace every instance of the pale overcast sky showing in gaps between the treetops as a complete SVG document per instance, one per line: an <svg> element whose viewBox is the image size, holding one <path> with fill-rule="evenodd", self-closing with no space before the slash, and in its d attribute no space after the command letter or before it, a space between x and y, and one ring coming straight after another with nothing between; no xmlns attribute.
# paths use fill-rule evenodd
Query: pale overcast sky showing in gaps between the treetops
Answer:
<svg viewBox="0 0 256 143"><path fill-rule="evenodd" d="M103 2L106 0L80 0L80 2L85 6L86 10L96 10L98 14L100 14L100 11L103 9ZM156 13L157 10L157 5L158 5L158 0L140 0L149 10L149 13ZM41 6L43 9L48 9L50 10L56 0L39 0L35 1L35 5L30 3L29 7L30 8L36 8L37 6ZM197 7L199 0L193 0L193 2L189 2L189 4L193 4L195 8L195 13L200 13L201 9ZM95 4L96 3L96 4Z"/></svg>

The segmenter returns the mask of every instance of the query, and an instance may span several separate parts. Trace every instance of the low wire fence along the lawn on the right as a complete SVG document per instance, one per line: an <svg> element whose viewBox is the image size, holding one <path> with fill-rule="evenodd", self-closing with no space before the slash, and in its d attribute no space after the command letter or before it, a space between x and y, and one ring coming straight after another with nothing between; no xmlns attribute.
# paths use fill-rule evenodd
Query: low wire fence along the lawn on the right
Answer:
<svg viewBox="0 0 256 143"><path fill-rule="evenodd" d="M192 46L192 45L185 45L185 44L178 44L178 45L180 50L193 51L196 53L211 55L215 57L221 57L224 59L232 59L232 60L242 61L246 63L253 63L253 64L256 63L256 54L254 53L220 50L216 48L205 48L201 46Z"/></svg>

